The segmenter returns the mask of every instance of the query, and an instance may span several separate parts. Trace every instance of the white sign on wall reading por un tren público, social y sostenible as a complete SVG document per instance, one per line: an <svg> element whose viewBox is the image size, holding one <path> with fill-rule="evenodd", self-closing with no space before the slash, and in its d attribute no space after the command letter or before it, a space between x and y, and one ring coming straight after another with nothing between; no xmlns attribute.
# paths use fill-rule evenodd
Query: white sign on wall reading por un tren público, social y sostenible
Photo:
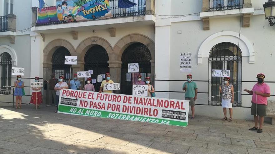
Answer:
<svg viewBox="0 0 275 154"><path fill-rule="evenodd" d="M183 53L180 55L180 72L191 72L191 53Z"/></svg>

